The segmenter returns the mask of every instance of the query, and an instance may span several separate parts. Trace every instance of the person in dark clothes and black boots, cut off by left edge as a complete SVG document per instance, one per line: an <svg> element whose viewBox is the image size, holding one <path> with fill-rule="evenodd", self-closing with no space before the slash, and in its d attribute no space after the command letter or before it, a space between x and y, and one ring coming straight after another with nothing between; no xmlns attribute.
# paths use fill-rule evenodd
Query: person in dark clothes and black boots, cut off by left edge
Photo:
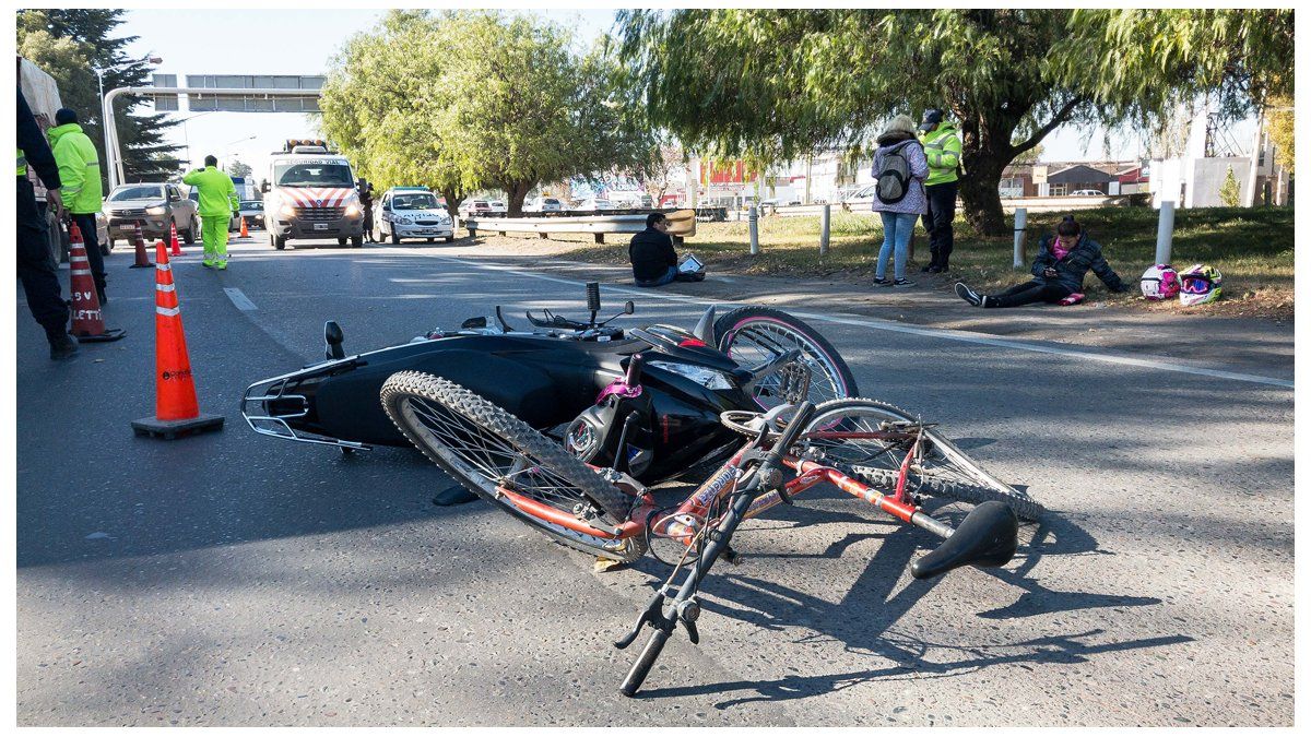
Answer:
<svg viewBox="0 0 1311 737"><path fill-rule="evenodd" d="M28 167L35 169L46 185L46 202L56 216L63 215L59 188L59 165L50 151L46 135L41 132L28 100L18 88L18 203L14 219L18 229L18 278L28 295L31 316L46 329L50 358L63 359L77 353L77 341L68 336L68 303L59 292L59 277L50 258L50 237L46 218L37 210L37 197L28 178Z"/></svg>

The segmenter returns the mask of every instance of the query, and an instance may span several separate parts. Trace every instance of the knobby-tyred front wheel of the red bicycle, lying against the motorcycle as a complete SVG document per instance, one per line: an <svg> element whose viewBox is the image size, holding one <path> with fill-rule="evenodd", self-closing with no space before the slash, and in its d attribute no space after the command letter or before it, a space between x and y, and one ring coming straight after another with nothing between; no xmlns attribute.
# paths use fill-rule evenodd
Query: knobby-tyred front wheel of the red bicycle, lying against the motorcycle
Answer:
<svg viewBox="0 0 1311 737"><path fill-rule="evenodd" d="M628 519L632 498L528 424L469 389L421 371L392 374L380 392L383 409L414 447L465 488L555 540L593 555L631 563L642 538L593 536L534 517L497 489L607 525Z"/></svg>

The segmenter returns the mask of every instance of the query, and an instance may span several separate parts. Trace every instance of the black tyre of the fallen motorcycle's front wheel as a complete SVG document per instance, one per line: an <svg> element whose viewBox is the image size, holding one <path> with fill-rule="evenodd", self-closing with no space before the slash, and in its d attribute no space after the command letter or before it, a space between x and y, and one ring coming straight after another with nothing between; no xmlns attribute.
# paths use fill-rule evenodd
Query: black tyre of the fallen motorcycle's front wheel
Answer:
<svg viewBox="0 0 1311 737"><path fill-rule="evenodd" d="M738 342L739 340L745 341L746 338L753 337L756 332L762 333L763 337L763 332L771 329L783 334L791 332L793 333L791 340L801 344L800 348L805 354L806 363L812 367L812 389L806 397L812 403L818 405L827 400L860 395L860 388L856 387L856 376L851 372L851 367L847 366L846 361L843 361L838 349L835 349L832 344L825 340L818 330L808 325L805 321L798 317L793 317L781 309L747 306L726 312L714 321L714 346L720 351L733 357L734 342ZM791 348L794 346L780 346L779 349L760 346L759 350L760 353L773 353L776 355L789 350ZM815 366L823 368L825 379L829 383L829 389L832 396L818 396L815 393L817 389L823 391L823 387L817 387L818 376L814 371ZM759 399L756 399L756 404L760 404L763 409L772 407L760 403Z"/></svg>

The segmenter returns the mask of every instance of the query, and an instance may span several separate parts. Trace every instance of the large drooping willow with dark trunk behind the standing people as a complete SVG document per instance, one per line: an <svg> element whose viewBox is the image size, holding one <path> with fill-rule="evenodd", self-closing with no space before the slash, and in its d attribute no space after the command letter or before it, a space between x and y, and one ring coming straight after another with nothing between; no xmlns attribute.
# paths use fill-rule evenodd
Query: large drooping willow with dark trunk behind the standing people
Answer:
<svg viewBox="0 0 1311 737"><path fill-rule="evenodd" d="M878 122L943 108L965 214L1002 235L1016 156L1067 123L1152 122L1201 89L1236 110L1286 71L1291 28L1291 10L620 10L616 47L653 122L725 157L868 151Z"/></svg>

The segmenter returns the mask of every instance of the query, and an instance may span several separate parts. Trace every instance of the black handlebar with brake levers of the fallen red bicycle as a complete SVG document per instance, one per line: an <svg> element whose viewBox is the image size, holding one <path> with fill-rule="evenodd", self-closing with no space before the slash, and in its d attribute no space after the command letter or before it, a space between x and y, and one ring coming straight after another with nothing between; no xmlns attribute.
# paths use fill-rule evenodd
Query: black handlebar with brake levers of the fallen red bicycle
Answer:
<svg viewBox="0 0 1311 737"><path fill-rule="evenodd" d="M742 519L746 518L746 510L750 509L751 502L755 500L754 487L755 484L753 484L753 488L737 490L729 497L732 500L729 511L720 521L720 525L708 534L709 542L701 548L696 564L683 578L683 585L679 586L678 594L669 601L667 606L669 586L665 585L656 591L656 595L652 597L650 603L646 606L646 611L637 618L633 631L623 640L615 643L616 648L624 649L637 640L644 624L650 624L656 629L652 632L650 639L646 640L646 647L642 648L637 661L633 662L633 667L624 677L624 683L619 687L623 695L632 696L637 694L637 690L642 686L642 681L646 679L646 674L656 665L656 658L665 649L665 643L669 641L670 635L674 633L679 623L687 629L687 636L694 645L701 641L701 636L696 631L696 619L701 614L701 606L696 601L696 591L701 585L701 580L711 572L714 561L730 549L729 540L733 538L733 532Z"/></svg>

